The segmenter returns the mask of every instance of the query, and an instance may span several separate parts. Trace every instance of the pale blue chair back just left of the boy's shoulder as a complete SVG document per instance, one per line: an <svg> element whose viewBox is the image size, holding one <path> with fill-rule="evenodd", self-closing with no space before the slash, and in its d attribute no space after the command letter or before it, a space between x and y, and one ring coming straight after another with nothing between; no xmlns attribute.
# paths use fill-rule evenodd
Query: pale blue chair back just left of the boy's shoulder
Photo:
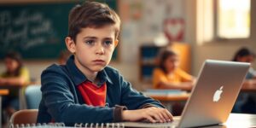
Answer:
<svg viewBox="0 0 256 128"><path fill-rule="evenodd" d="M38 109L42 99L40 87L40 85L29 85L26 87L25 98L27 109Z"/></svg>

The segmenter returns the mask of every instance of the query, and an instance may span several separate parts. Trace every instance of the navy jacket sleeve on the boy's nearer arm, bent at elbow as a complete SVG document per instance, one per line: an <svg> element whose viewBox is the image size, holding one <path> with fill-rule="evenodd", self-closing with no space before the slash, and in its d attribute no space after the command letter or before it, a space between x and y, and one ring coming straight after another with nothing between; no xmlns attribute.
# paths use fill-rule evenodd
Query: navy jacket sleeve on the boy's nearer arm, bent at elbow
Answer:
<svg viewBox="0 0 256 128"><path fill-rule="evenodd" d="M55 122L106 123L113 121L114 108L92 107L75 103L75 97L68 84L67 74L61 70L47 69L42 73L42 93L47 112Z"/></svg>

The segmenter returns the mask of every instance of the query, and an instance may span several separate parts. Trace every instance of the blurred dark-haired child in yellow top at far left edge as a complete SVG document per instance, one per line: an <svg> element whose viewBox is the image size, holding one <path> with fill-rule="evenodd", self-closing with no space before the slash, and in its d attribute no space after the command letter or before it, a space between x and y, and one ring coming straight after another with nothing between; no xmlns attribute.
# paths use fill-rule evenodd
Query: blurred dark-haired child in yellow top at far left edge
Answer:
<svg viewBox="0 0 256 128"><path fill-rule="evenodd" d="M9 52L5 55L4 64L6 71L0 74L0 88L9 89L9 96L3 96L2 104L3 111L10 116L19 109L19 88L29 84L30 76L26 67L23 66L21 56L16 52Z"/></svg>

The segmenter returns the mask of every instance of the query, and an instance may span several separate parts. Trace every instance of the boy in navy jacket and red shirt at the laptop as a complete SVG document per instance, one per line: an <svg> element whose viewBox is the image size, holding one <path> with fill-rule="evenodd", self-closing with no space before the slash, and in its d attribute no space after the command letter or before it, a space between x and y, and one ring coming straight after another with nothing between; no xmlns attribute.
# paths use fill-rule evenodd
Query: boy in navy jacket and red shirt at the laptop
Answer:
<svg viewBox="0 0 256 128"><path fill-rule="evenodd" d="M65 41L73 55L65 66L52 65L42 73L39 123L172 121L159 102L131 89L117 70L107 67L119 27L119 16L108 5L85 2L71 10Z"/></svg>

